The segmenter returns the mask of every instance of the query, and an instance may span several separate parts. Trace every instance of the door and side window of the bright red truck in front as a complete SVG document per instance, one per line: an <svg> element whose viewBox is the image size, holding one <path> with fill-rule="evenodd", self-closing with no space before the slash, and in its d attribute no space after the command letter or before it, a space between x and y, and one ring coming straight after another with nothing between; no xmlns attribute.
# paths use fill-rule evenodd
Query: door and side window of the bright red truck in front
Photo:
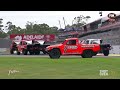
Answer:
<svg viewBox="0 0 120 90"><path fill-rule="evenodd" d="M64 46L65 54L78 54L78 46L76 40L68 40Z"/></svg>

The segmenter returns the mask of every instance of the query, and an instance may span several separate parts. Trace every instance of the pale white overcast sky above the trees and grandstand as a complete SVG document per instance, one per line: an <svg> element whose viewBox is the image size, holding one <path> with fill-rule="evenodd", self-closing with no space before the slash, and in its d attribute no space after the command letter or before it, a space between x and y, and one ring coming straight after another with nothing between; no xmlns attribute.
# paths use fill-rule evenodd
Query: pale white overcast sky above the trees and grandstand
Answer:
<svg viewBox="0 0 120 90"><path fill-rule="evenodd" d="M106 17L109 13L120 14L120 11L102 11L103 16ZM6 22L11 21L14 25L25 28L27 21L34 22L37 24L46 23L50 27L57 26L64 28L63 17L66 25L72 24L74 17L84 15L90 16L88 23L100 19L99 11L0 11L0 18L3 19L3 25Z"/></svg>

